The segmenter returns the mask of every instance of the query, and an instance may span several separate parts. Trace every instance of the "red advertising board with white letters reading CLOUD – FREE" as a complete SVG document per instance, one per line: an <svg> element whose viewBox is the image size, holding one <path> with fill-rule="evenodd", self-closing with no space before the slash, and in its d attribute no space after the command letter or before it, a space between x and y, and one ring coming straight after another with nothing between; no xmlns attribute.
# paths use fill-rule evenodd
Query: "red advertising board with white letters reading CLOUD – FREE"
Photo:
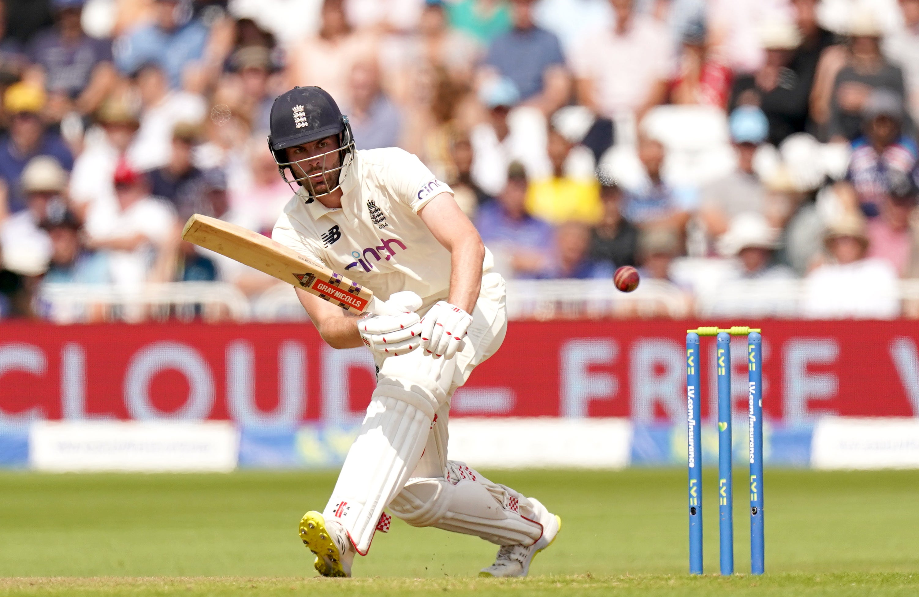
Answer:
<svg viewBox="0 0 919 597"><path fill-rule="evenodd" d="M919 327L758 325L768 419L919 416ZM454 396L452 415L682 419L686 327L512 323L502 349ZM702 383L710 388L703 415L714 400L713 344L703 339ZM743 416L743 337L734 339L732 364L735 409ZM349 419L366 407L373 375L366 350L333 350L310 325L5 323L0 426L29 419L233 419L261 426Z"/></svg>

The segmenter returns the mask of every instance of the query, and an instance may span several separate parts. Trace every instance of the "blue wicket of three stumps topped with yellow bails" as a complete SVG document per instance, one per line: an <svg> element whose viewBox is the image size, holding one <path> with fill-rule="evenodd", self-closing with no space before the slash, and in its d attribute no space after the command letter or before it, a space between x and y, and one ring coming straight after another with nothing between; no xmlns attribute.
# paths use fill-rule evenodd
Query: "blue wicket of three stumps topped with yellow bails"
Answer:
<svg viewBox="0 0 919 597"><path fill-rule="evenodd" d="M689 573L702 574L702 443L699 337L716 337L718 376L718 511L721 575L734 573L731 337L747 337L750 452L750 571L763 574L763 371L761 330L746 326L686 330L686 425L689 465Z"/></svg>

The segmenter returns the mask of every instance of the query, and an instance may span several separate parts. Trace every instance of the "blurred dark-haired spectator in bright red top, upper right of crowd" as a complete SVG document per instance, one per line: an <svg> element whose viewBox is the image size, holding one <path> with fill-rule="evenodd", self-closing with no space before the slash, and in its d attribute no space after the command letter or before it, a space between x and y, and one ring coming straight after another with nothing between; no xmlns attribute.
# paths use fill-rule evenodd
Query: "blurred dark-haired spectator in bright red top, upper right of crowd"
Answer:
<svg viewBox="0 0 919 597"><path fill-rule="evenodd" d="M715 106L728 103L731 92L731 69L721 62L709 47L708 27L704 18L694 18L682 31L683 52L675 77L658 84L656 94L663 103Z"/></svg>

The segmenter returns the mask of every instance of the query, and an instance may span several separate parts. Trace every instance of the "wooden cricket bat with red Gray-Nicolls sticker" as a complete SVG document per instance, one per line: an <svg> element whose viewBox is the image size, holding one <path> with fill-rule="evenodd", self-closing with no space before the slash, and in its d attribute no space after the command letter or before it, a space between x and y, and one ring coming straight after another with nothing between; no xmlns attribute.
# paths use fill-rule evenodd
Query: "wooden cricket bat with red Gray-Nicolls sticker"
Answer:
<svg viewBox="0 0 919 597"><path fill-rule="evenodd" d="M383 304L369 289L333 270L316 265L303 258L297 251L243 226L196 213L188 218L185 228L182 229L182 238L250 268L264 271L269 276L286 281L294 288L315 294L351 313L399 313Z"/></svg>

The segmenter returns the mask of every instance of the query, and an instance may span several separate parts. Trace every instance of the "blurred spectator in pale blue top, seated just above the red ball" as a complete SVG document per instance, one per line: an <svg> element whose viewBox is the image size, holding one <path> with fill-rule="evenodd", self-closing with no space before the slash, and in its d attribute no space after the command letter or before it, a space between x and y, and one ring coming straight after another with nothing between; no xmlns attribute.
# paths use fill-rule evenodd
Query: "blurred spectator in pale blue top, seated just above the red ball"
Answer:
<svg viewBox="0 0 919 597"><path fill-rule="evenodd" d="M666 228L682 235L698 200L693 189L675 188L661 178L664 144L646 134L639 136L638 156L644 183L626 193L622 214L640 228Z"/></svg>

